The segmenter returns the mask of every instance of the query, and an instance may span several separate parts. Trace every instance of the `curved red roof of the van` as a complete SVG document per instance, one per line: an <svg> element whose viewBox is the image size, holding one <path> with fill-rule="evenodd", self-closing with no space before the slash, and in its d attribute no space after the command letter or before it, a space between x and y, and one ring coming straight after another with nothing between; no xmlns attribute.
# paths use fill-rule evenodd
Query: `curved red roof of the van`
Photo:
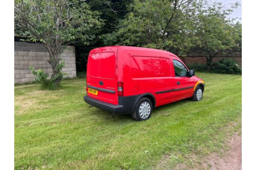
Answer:
<svg viewBox="0 0 256 170"><path fill-rule="evenodd" d="M118 48L118 49L122 49L122 50L135 50L136 49L136 50L146 50L146 51L151 51L151 52L162 52L162 53L168 53L169 55L172 55L174 57L179 58L174 53L169 52L169 51L157 50L157 49L151 49L151 48L144 48L144 47L122 46L122 45L99 47L99 48L93 49L92 51L96 52L96 51L101 51L102 49L110 50L112 48Z"/></svg>

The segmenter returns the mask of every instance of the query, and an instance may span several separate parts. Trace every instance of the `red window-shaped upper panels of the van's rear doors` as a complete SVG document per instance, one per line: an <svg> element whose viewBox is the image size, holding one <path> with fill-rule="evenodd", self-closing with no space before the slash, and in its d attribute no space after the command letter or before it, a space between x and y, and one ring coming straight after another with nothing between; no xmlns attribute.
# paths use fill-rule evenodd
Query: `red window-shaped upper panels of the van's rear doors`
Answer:
<svg viewBox="0 0 256 170"><path fill-rule="evenodd" d="M114 78L115 64L114 52L92 53L88 61L88 74L101 78Z"/></svg>

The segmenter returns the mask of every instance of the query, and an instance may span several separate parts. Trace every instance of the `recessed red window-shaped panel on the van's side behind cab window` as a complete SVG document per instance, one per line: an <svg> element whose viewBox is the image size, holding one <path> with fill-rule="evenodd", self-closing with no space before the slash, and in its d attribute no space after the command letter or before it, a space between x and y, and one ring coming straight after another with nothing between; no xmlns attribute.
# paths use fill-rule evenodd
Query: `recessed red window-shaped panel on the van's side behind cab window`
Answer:
<svg viewBox="0 0 256 170"><path fill-rule="evenodd" d="M160 57L131 57L131 72L134 78L171 76L170 60Z"/></svg>

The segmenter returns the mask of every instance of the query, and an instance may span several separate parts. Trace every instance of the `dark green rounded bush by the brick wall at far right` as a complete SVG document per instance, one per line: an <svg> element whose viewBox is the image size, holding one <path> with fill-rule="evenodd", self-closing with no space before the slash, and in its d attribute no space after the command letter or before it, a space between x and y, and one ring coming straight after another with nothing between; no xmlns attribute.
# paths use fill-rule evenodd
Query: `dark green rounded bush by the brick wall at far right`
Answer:
<svg viewBox="0 0 256 170"><path fill-rule="evenodd" d="M242 74L242 69L232 59L221 59L212 64L211 72L221 74Z"/></svg>

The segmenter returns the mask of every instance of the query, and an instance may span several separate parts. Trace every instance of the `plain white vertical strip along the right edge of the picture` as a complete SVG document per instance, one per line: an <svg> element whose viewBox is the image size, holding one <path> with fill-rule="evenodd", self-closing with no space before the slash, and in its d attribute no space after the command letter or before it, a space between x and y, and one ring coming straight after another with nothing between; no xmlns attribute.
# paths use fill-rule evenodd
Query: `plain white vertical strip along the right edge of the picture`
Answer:
<svg viewBox="0 0 256 170"><path fill-rule="evenodd" d="M242 1L242 169L256 170L256 1Z"/></svg>

